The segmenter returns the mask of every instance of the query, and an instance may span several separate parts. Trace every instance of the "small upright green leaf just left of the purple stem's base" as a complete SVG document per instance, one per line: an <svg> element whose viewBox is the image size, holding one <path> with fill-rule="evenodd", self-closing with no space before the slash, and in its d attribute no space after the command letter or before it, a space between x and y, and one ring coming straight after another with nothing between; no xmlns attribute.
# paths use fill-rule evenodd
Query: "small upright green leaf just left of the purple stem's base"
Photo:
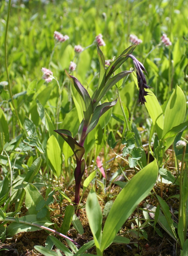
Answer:
<svg viewBox="0 0 188 256"><path fill-rule="evenodd" d="M74 215L74 206L69 204L69 205L67 205L67 207L65 209L63 223L60 228L60 231L62 234L65 235L68 232L68 230L70 229L70 224L73 220L73 215Z"/></svg>

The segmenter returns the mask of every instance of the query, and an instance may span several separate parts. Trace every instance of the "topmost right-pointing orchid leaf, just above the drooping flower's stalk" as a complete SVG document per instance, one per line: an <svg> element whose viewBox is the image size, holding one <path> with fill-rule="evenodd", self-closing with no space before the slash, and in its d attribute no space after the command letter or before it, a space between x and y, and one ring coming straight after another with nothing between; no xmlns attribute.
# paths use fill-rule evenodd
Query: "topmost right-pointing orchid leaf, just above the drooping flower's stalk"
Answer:
<svg viewBox="0 0 188 256"><path fill-rule="evenodd" d="M121 55L115 59L110 66L108 67L108 69L106 70L106 81L110 78L110 76L114 73L114 71L116 69L118 69L121 64L127 60L129 57L127 57L127 55L131 54L135 47L137 46L137 44L131 45L129 48L127 48L125 51L123 51L121 53Z"/></svg>

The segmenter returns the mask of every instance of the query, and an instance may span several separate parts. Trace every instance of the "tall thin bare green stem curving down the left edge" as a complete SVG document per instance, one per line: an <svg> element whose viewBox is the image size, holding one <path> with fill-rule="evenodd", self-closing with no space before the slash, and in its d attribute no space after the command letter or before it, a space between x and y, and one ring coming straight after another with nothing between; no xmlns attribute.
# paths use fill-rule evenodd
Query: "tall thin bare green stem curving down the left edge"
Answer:
<svg viewBox="0 0 188 256"><path fill-rule="evenodd" d="M6 20L6 28L5 28L5 36L4 36L4 61L5 61L6 75L7 75L7 79L8 79L9 94L10 94L10 97L11 97L11 100L12 100L13 108L14 108L15 113L16 113L16 117L17 117L19 129L21 130L20 119L19 119L19 117L18 117L18 113L17 113L16 107L15 107L15 104L14 104L14 100L13 100L13 97L12 97L11 82L10 82L10 78L9 78L8 64L7 64L6 39L7 39L8 25L9 25L10 10L11 10L11 0L9 0L9 4L8 4L8 12L7 12L7 20Z"/></svg>

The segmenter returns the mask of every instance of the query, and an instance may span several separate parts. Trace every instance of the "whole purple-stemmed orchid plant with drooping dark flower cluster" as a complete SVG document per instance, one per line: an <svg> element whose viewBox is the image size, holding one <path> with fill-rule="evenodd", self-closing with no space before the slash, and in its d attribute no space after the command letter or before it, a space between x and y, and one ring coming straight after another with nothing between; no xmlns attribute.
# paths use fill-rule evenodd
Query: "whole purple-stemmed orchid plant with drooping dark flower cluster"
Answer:
<svg viewBox="0 0 188 256"><path fill-rule="evenodd" d="M134 69L129 71L122 71L119 74L111 77L114 74L114 71L118 69L128 58L131 58L133 60L133 64L137 73L137 80L139 86L138 101L141 104L145 104L146 102L145 96L148 95L148 93L145 91L145 89L148 89L149 86L146 84L146 79L142 72L146 72L146 70L142 63L140 63L133 55L131 55L136 46L137 44L134 44L127 48L125 51L123 51L121 55L117 59L115 59L107 69L105 69L104 55L100 50L99 45L97 46L100 67L99 81L98 87L91 98L87 90L82 86L78 79L76 79L74 76L69 75L65 70L67 77L70 79L71 83L74 85L75 89L80 95L83 108L83 120L78 130L78 142L72 138L71 132L68 130L55 130L55 132L63 137L63 139L68 143L68 145L73 150L74 156L76 158L76 168L74 170L76 205L79 204L80 184L86 167L85 160L83 158L85 152L85 149L83 147L84 141L88 133L97 125L100 116L102 116L108 109L112 108L117 102L116 99L112 102L105 102L98 105L100 100L112 88L113 85L115 85L122 78L133 72Z"/></svg>

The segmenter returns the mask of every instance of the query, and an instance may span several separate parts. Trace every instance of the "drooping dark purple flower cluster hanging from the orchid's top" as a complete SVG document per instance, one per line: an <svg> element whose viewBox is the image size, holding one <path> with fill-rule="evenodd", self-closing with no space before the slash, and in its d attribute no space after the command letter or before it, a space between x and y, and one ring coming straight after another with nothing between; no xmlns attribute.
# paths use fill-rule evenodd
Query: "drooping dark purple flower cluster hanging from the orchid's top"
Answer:
<svg viewBox="0 0 188 256"><path fill-rule="evenodd" d="M135 66L136 73L137 73L137 81L138 81L138 87L139 87L138 102L141 104L145 104L146 102L145 96L149 95L149 93L146 92L145 89L151 88L150 86L147 85L145 75L142 72L142 71L146 72L145 67L132 54L129 54L128 57L133 60L133 64Z"/></svg>

